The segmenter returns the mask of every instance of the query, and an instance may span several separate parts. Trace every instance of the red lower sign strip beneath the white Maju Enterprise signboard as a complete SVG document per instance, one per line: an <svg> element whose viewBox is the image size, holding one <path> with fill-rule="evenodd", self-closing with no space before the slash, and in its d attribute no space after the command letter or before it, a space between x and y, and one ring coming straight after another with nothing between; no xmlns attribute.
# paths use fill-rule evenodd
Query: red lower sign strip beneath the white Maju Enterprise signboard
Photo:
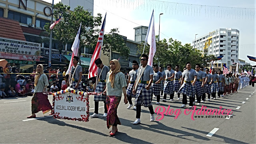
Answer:
<svg viewBox="0 0 256 144"><path fill-rule="evenodd" d="M12 60L27 60L27 61L40 61L40 56L29 56L22 54L10 54L0 52L0 58L2 59L12 59ZM20 61L19 61L20 64Z"/></svg>

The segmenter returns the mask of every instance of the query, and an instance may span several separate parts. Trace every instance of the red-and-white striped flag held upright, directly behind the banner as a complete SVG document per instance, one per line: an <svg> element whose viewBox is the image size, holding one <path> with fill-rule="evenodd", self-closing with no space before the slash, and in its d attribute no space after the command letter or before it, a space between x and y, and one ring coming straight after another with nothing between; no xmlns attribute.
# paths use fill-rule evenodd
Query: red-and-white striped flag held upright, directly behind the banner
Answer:
<svg viewBox="0 0 256 144"><path fill-rule="evenodd" d="M107 13L105 14L105 18L104 18L104 20L102 22L102 26L101 26L98 42L97 42L97 45L95 47L95 50L93 52L92 59L91 59L91 62L90 62L88 79L92 78L94 76L97 76L97 73L98 73L98 67L96 66L96 64L94 62L95 62L95 60L100 58L100 52L101 52L101 48L103 46L103 38L104 38L104 28L105 28L105 23L106 23L106 15L107 15Z"/></svg>

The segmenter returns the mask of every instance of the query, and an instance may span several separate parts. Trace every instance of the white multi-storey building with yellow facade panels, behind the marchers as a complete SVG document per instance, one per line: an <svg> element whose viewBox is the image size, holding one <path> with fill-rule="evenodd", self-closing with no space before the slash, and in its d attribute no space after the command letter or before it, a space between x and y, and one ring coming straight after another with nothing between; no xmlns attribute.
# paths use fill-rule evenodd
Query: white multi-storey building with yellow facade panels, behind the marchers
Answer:
<svg viewBox="0 0 256 144"><path fill-rule="evenodd" d="M232 28L219 28L192 41L193 48L201 50L204 54L223 56L221 60L214 62L214 68L223 68L223 64L229 68L232 61L238 62L239 30Z"/></svg>

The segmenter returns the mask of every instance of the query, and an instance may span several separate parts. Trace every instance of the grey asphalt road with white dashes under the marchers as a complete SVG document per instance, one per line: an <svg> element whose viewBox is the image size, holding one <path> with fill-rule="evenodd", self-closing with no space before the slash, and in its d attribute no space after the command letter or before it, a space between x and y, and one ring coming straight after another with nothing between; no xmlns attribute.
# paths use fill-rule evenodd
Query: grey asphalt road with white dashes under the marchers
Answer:
<svg viewBox="0 0 256 144"><path fill-rule="evenodd" d="M36 114L38 118L27 119L31 114L31 98L0 99L0 143L255 143L256 142L256 87L248 86L238 93L230 94L210 102L201 103L206 109L230 109L232 118L195 118L185 115L186 108L180 108L181 100L174 96L172 102L160 102L156 105L181 114L164 115L162 120L150 122L148 108L142 107L141 124L133 125L136 111L127 109L123 98L118 107L118 125L116 136L110 137L106 127L106 118L90 118L89 122L54 119ZM52 102L52 96L48 97ZM134 98L132 99L134 100ZM162 98L161 98L162 100ZM244 104L242 103L244 102ZM134 102L133 102L134 103ZM94 112L93 96L90 96L90 115ZM103 102L99 104L99 114L103 115ZM238 107L240 107L238 109ZM188 108L188 105L187 105ZM196 106L201 109L202 106ZM187 111L188 113L188 111ZM225 113L225 112L224 112ZM160 115L159 115L160 116ZM196 116L196 114L194 114ZM201 115L203 116L203 115ZM221 115L222 116L222 115ZM155 113L155 119L157 115ZM159 117L160 118L160 117ZM192 118L194 120L192 120ZM211 133L210 133L211 132Z"/></svg>

